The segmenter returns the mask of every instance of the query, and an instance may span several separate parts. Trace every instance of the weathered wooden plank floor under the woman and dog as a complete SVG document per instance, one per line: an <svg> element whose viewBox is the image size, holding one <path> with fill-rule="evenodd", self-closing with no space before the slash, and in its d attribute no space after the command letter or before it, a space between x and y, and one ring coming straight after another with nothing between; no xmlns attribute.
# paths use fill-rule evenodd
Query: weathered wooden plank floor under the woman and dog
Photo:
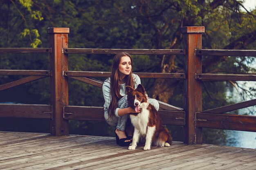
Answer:
<svg viewBox="0 0 256 170"><path fill-rule="evenodd" d="M182 142L128 150L113 137L0 132L0 169L255 170L256 150Z"/></svg>

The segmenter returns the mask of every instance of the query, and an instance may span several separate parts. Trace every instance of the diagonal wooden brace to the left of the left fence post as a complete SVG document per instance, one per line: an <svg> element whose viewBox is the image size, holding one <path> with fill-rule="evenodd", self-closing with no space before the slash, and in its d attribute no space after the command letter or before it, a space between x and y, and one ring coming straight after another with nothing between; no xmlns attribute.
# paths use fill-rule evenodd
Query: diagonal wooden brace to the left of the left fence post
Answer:
<svg viewBox="0 0 256 170"><path fill-rule="evenodd" d="M29 76L29 77L25 77L23 79L19 79L19 80L16 80L16 81L13 81L13 82L9 82L9 83L6 83L6 84L2 84L0 85L0 91L2 90L6 90L8 88L11 88L11 87L15 87L15 86L18 86L20 84L25 84L25 83L28 83L28 82L33 82L37 79L42 79L42 78L45 78L47 76Z"/></svg>

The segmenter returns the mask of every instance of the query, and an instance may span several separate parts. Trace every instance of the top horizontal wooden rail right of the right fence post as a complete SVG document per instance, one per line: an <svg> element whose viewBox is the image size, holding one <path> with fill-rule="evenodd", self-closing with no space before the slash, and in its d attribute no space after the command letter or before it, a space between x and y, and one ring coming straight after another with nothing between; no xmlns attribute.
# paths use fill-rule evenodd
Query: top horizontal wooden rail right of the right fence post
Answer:
<svg viewBox="0 0 256 170"><path fill-rule="evenodd" d="M214 55L214 56L248 56L255 57L256 50L216 50L216 49L196 49L196 55Z"/></svg>

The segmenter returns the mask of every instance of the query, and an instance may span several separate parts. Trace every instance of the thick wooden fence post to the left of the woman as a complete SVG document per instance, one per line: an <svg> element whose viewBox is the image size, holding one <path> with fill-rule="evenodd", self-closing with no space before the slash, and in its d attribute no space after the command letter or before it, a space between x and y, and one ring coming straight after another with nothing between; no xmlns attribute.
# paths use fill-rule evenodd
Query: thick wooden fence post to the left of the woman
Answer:
<svg viewBox="0 0 256 170"><path fill-rule="evenodd" d="M68 79L63 76L63 71L68 70L67 54L62 53L67 48L67 34L69 28L48 28L50 35L50 70L51 76L51 105L52 121L51 135L69 135L68 120L63 119L64 106L68 105Z"/></svg>

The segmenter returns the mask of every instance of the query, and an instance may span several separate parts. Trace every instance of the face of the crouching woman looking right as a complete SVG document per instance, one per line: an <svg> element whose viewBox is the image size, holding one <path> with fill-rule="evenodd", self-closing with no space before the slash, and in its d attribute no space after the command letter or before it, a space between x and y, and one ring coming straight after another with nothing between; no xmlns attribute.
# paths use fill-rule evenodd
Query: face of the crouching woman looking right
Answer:
<svg viewBox="0 0 256 170"><path fill-rule="evenodd" d="M121 78L124 78L124 76L129 75L132 70L132 62L130 57L123 56L121 57L121 60L119 62L118 66L119 75Z"/></svg>

